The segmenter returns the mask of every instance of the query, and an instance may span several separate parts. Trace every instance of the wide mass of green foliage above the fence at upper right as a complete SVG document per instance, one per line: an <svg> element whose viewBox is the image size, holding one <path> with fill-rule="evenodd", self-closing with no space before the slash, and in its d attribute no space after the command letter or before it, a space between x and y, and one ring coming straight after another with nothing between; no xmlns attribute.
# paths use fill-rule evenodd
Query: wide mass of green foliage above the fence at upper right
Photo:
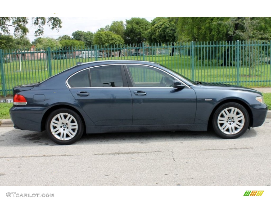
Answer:
<svg viewBox="0 0 271 203"><path fill-rule="evenodd" d="M179 17L176 37L181 41L270 39L270 17Z"/></svg>

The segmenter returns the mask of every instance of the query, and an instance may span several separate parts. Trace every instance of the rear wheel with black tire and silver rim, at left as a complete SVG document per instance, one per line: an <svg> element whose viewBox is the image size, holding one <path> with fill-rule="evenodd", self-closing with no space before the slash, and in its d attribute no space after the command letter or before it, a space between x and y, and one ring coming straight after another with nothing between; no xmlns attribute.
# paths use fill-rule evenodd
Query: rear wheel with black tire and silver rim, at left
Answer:
<svg viewBox="0 0 271 203"><path fill-rule="evenodd" d="M47 118L46 132L55 143L70 145L83 135L82 119L70 109L57 109Z"/></svg>

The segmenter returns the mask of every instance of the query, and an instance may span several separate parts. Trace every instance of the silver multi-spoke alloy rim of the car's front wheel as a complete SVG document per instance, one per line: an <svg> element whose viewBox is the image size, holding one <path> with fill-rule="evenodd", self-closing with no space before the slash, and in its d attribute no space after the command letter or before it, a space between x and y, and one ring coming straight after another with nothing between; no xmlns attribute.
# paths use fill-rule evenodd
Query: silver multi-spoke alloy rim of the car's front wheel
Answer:
<svg viewBox="0 0 271 203"><path fill-rule="evenodd" d="M243 129L245 117L239 109L229 107L220 112L217 124L221 132L227 135L234 135Z"/></svg>

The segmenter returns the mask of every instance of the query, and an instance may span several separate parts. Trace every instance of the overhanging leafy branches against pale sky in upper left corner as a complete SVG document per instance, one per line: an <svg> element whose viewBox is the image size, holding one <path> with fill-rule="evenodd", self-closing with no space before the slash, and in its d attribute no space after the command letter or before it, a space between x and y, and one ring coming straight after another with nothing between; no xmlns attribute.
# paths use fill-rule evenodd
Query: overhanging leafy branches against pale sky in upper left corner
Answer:
<svg viewBox="0 0 271 203"><path fill-rule="evenodd" d="M26 35L29 30L27 24L29 20L32 19L33 25L37 26L35 31L35 36L43 34L43 27L47 25L51 30L62 28L62 21L58 17L0 17L0 33L10 34L10 27L14 28L14 35Z"/></svg>

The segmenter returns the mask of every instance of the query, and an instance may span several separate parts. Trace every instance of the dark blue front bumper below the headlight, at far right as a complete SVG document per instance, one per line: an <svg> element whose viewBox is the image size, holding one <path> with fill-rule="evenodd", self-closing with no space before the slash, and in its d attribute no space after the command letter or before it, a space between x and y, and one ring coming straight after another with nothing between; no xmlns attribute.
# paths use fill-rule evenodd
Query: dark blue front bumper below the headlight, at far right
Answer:
<svg viewBox="0 0 271 203"><path fill-rule="evenodd" d="M265 104L251 105L250 109L253 119L251 127L259 127L263 125L268 110L267 106Z"/></svg>

